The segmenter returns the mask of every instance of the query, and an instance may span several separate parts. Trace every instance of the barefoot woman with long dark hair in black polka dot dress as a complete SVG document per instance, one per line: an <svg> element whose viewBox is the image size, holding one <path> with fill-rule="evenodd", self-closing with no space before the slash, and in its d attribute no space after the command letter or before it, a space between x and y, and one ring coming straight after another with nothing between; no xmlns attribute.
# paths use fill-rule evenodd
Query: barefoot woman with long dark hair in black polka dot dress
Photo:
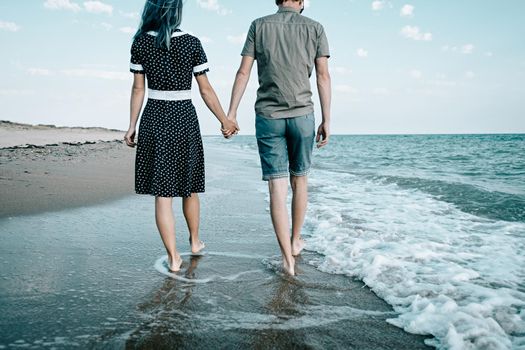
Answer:
<svg viewBox="0 0 525 350"><path fill-rule="evenodd" d="M136 124L148 80L148 100L140 120L135 159L135 191L155 196L157 228L168 253L168 268L180 270L172 198L182 197L191 252L199 253L200 203L204 192L204 154L199 122L191 102L195 76L202 99L222 125L225 137L238 131L227 119L206 72L208 62L199 39L179 29L182 0L148 0L131 45L134 73L129 130L124 139L135 146Z"/></svg>

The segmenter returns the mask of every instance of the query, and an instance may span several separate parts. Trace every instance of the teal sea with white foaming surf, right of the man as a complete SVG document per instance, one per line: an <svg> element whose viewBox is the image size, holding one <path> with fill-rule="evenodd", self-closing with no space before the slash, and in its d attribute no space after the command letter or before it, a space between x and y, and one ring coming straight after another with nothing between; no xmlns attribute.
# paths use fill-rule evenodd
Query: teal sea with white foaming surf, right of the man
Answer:
<svg viewBox="0 0 525 350"><path fill-rule="evenodd" d="M525 135L334 136L314 161L311 265L438 349L525 349Z"/></svg>

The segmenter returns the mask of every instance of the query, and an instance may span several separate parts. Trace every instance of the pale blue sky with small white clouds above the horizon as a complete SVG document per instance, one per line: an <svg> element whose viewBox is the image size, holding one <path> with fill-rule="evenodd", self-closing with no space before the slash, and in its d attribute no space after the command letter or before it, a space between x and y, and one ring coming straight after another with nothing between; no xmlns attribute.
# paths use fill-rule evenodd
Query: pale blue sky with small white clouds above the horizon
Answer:
<svg viewBox="0 0 525 350"><path fill-rule="evenodd" d="M0 2L0 119L126 130L130 46L144 0ZM309 0L331 58L334 134L524 133L525 1ZM186 0L181 29L199 37L228 108L253 19L274 0ZM311 80L316 119L321 114ZM193 102L203 134L219 124ZM238 121L254 133L257 68Z"/></svg>

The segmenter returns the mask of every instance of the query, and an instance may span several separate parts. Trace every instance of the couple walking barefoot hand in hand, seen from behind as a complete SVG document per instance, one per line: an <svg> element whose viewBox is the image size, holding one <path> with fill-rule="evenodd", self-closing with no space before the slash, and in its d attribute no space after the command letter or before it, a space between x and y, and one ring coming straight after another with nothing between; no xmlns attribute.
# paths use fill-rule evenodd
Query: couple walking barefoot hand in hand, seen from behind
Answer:
<svg viewBox="0 0 525 350"><path fill-rule="evenodd" d="M204 154L191 102L192 78L195 76L202 99L221 123L224 137L229 138L239 131L237 109L257 60L255 124L263 180L268 181L270 213L283 256L283 270L295 274L294 256L304 247L301 229L314 139L317 147L323 147L330 135L330 53L322 25L301 15L304 0L275 3L279 7L277 13L256 19L250 26L228 116L206 76L208 62L199 39L179 29L183 0L147 0L144 6L131 46L134 81L130 126L124 139L128 146L137 146L135 191L155 196L157 228L171 271L179 271L182 264L175 241L173 197L182 197L191 252L198 254L204 248L199 239L197 195L204 192ZM322 110L317 137L309 81L314 67ZM148 100L135 143L146 77ZM293 191L291 238L286 208L288 179Z"/></svg>

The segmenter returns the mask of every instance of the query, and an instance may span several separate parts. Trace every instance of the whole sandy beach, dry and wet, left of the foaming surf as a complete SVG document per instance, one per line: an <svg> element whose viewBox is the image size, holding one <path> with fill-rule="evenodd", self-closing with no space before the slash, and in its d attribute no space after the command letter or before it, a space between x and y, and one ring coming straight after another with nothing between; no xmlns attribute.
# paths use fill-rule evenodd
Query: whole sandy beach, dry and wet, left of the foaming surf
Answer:
<svg viewBox="0 0 525 350"><path fill-rule="evenodd" d="M280 272L253 152L219 137L204 138L206 254L187 254L175 201L184 264L169 273L134 150L106 135L2 145L0 349L426 348L362 282L313 267L318 254Z"/></svg>

